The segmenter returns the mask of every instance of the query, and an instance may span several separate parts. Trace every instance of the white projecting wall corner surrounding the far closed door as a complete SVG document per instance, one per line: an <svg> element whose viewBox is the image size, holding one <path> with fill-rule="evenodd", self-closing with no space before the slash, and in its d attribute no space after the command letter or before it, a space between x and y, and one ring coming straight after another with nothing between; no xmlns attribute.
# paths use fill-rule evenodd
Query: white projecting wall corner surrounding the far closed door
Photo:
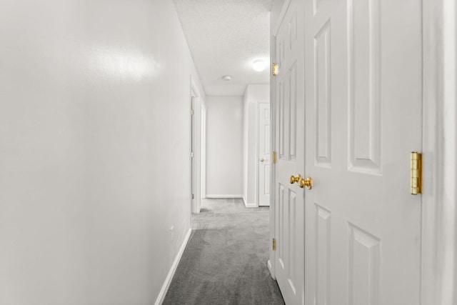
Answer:
<svg viewBox="0 0 457 305"><path fill-rule="evenodd" d="M249 84L243 97L243 198L246 206L258 206L258 103L269 103L269 84Z"/></svg>

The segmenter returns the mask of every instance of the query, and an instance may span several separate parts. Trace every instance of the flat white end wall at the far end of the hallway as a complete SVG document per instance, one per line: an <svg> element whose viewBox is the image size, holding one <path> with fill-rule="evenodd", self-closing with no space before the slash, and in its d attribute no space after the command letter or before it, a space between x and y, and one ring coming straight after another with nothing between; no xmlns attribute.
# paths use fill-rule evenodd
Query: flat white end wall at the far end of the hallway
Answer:
<svg viewBox="0 0 457 305"><path fill-rule="evenodd" d="M243 97L206 96L206 196L243 192Z"/></svg>

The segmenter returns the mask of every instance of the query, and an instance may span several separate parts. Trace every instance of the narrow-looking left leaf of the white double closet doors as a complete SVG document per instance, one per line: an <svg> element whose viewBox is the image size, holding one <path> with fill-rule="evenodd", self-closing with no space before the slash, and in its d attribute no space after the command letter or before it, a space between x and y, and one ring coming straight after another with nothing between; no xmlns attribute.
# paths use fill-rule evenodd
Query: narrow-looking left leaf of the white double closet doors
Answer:
<svg viewBox="0 0 457 305"><path fill-rule="evenodd" d="M290 176L304 171L303 1L292 0L276 33L276 280L286 304L304 289L303 189Z"/></svg>

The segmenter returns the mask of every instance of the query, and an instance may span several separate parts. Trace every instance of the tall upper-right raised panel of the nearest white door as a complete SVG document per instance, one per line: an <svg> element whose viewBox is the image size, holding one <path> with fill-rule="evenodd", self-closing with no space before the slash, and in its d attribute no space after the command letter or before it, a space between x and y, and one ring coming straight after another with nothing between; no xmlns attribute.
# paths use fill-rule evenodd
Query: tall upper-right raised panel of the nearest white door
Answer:
<svg viewBox="0 0 457 305"><path fill-rule="evenodd" d="M348 1L349 169L381 174L379 0Z"/></svg>

